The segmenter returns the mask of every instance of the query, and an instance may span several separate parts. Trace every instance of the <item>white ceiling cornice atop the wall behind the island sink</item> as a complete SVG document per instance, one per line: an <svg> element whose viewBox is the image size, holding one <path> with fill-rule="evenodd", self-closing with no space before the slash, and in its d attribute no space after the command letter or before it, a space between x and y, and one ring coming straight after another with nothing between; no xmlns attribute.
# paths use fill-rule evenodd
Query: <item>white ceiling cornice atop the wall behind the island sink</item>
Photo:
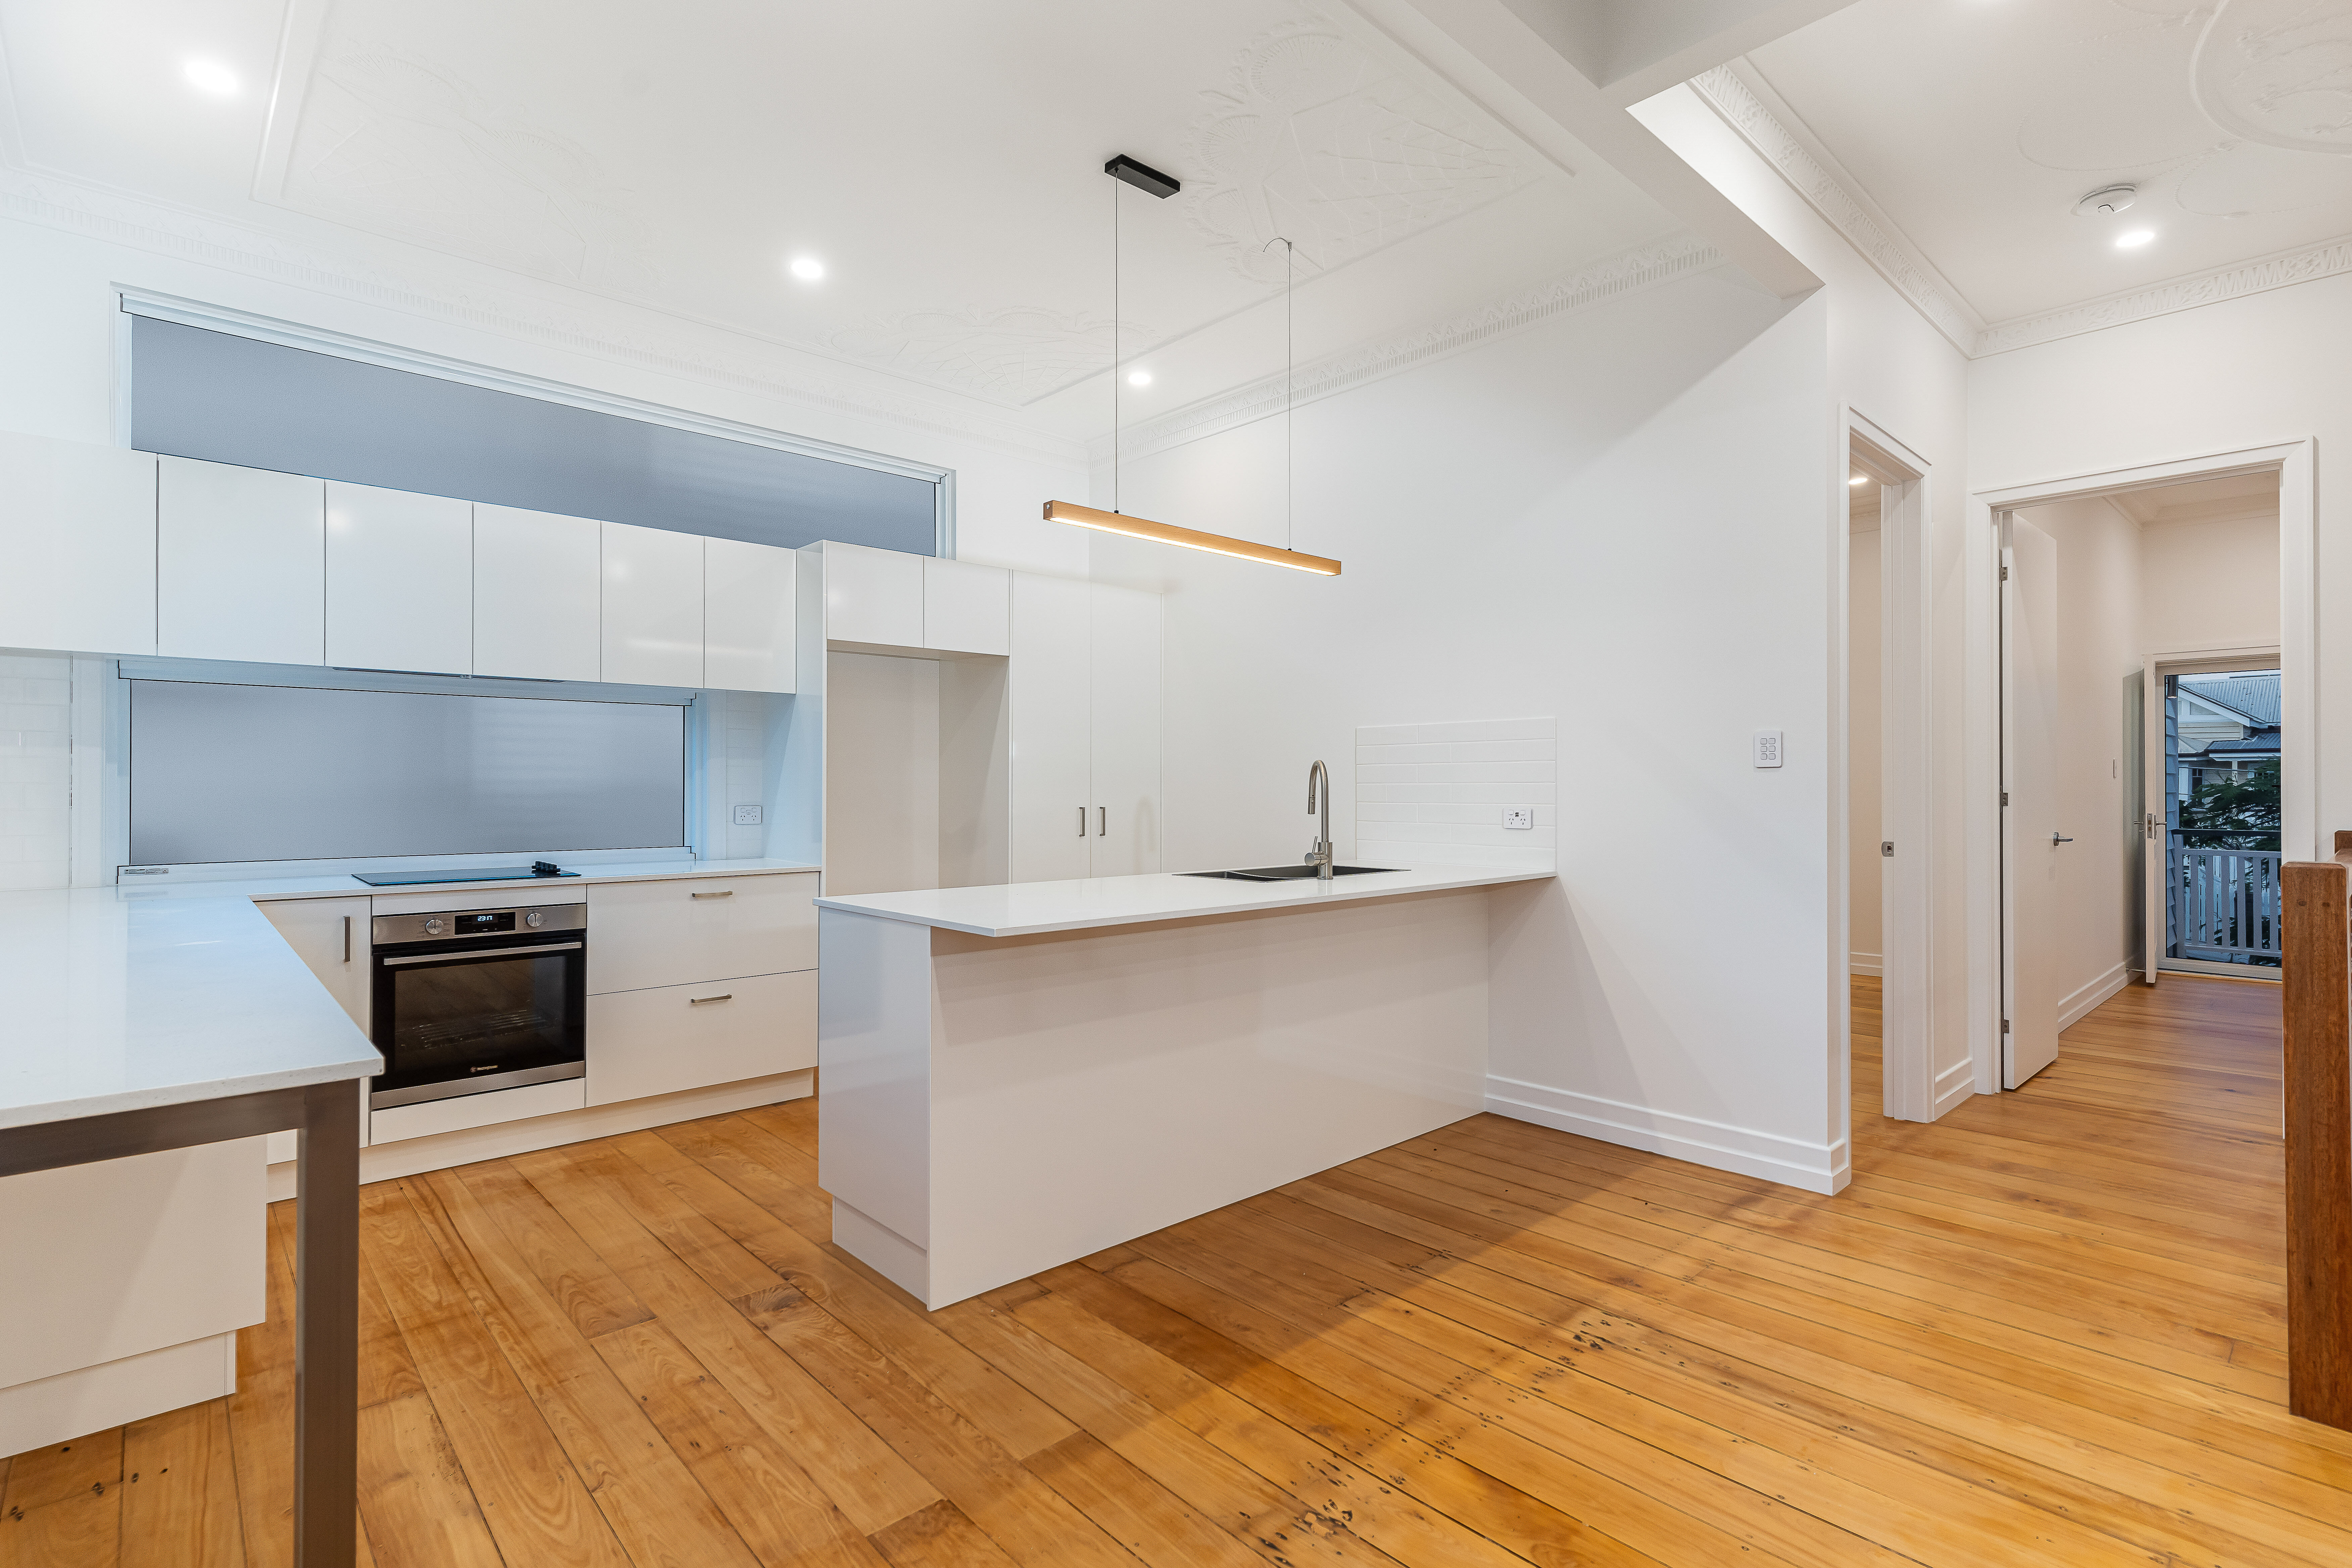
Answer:
<svg viewBox="0 0 2352 1568"><path fill-rule="evenodd" d="M1675 235L1639 244L1479 310L1468 310L1402 336L1357 343L1355 348L1301 364L1287 376L1263 376L1230 393L1202 397L1136 423L1120 433L1120 456L1152 456L1155 451L1183 447L1185 442L1279 414L1284 409L1284 383L1289 383L1289 407L1296 409L1298 404L1355 390L1397 371L1463 353L1465 348L1512 336L1555 315L1719 268L1724 261L1724 252L1696 235ZM1089 458L1108 463L1110 437L1089 442Z"/></svg>

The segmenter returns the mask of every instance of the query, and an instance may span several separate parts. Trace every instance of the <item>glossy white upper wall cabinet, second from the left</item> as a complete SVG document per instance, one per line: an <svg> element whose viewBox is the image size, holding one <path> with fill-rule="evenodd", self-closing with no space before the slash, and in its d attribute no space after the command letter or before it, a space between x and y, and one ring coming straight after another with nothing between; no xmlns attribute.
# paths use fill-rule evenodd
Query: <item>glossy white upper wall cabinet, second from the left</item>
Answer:
<svg viewBox="0 0 2352 1568"><path fill-rule="evenodd" d="M327 658L327 482L158 458L155 651Z"/></svg>

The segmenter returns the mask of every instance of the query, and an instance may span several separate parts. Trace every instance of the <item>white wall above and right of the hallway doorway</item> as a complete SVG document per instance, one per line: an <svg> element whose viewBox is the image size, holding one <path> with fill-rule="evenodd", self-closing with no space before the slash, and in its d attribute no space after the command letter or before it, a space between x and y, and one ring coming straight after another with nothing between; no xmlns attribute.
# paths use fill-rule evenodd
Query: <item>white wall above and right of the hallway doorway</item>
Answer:
<svg viewBox="0 0 2352 1568"><path fill-rule="evenodd" d="M2331 682L2352 621L2352 491L2328 454L2352 451L2343 343L2352 277L2321 277L1969 367L1971 484L2002 489L2312 437L2317 451L2317 799L2321 839L2352 827L2352 684ZM2194 367L2194 374L2183 374ZM2317 844L2288 842L2310 858Z"/></svg>

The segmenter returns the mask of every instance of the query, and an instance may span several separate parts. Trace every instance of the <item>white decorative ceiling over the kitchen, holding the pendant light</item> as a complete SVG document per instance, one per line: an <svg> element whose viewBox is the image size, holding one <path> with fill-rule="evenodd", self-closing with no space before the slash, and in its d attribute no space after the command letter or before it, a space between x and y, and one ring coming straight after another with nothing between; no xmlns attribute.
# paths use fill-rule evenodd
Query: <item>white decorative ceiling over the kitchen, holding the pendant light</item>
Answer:
<svg viewBox="0 0 2352 1568"><path fill-rule="evenodd" d="M1155 376L1120 386L1127 421L1282 369L1275 235L1310 362L1675 230L1298 0L0 0L0 47L21 169L489 263L1063 435L1110 423L1115 193L1122 346ZM1185 190L1120 188L1110 153Z"/></svg>

